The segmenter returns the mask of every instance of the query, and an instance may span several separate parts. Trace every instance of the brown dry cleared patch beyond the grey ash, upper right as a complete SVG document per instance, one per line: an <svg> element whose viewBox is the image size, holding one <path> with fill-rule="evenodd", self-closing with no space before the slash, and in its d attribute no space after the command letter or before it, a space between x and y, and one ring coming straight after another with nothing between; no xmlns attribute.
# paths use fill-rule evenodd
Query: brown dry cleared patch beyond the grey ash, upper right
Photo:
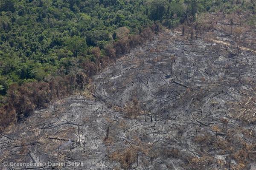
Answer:
<svg viewBox="0 0 256 170"><path fill-rule="evenodd" d="M242 1L237 4L241 4ZM247 2L250 3L250 2ZM218 11L214 14L203 13L198 15L194 23L184 23L179 30L185 28L184 39L208 38L229 42L234 46L241 46L256 50L255 26L250 24L251 16L249 11L235 11L225 14Z"/></svg>

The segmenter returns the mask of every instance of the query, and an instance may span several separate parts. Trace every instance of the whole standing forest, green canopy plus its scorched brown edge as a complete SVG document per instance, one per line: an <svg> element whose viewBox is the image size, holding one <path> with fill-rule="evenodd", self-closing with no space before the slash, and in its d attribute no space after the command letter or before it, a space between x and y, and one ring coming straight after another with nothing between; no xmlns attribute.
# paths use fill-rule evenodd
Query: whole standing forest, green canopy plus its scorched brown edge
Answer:
<svg viewBox="0 0 256 170"><path fill-rule="evenodd" d="M253 0L1 0L0 113L10 119L1 124L85 88L88 77L161 26L255 8Z"/></svg>

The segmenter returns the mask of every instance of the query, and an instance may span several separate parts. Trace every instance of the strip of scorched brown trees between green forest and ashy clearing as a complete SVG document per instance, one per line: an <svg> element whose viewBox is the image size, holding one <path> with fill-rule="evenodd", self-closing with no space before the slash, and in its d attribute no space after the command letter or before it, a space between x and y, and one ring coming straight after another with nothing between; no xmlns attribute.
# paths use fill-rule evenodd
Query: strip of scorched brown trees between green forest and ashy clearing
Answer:
<svg viewBox="0 0 256 170"><path fill-rule="evenodd" d="M30 115L35 109L45 108L55 99L71 95L77 90L83 90L91 76L107 67L120 55L128 53L131 48L152 40L154 34L159 31L160 26L157 25L145 28L140 35L128 35L126 31L125 36L120 40L113 45L106 46L107 56L101 56L99 47L93 48L91 54L96 61L82 62L81 68L83 69L80 73L50 78L48 82L32 82L22 86L12 85L8 91L6 105L0 108L0 131L10 123Z"/></svg>

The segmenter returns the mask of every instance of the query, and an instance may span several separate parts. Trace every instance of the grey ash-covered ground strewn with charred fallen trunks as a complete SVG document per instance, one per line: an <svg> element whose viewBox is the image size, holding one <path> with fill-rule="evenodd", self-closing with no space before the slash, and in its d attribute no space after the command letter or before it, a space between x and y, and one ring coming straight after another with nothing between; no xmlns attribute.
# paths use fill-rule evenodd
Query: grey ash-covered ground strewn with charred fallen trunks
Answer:
<svg viewBox="0 0 256 170"><path fill-rule="evenodd" d="M164 31L94 76L91 96L9 127L2 169L256 170L255 63Z"/></svg>

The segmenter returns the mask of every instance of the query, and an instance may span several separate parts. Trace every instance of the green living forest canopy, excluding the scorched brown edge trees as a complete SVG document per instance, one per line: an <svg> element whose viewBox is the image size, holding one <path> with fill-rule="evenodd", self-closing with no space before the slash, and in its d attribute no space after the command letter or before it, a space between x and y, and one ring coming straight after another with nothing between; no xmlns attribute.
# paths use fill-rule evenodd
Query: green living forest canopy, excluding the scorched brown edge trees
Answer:
<svg viewBox="0 0 256 170"><path fill-rule="evenodd" d="M92 47L105 54L126 27L139 34L155 21L170 28L214 11L228 0L2 0L0 2L0 98L10 85L69 74ZM235 8L235 7L232 7ZM255 10L255 6L250 6Z"/></svg>

